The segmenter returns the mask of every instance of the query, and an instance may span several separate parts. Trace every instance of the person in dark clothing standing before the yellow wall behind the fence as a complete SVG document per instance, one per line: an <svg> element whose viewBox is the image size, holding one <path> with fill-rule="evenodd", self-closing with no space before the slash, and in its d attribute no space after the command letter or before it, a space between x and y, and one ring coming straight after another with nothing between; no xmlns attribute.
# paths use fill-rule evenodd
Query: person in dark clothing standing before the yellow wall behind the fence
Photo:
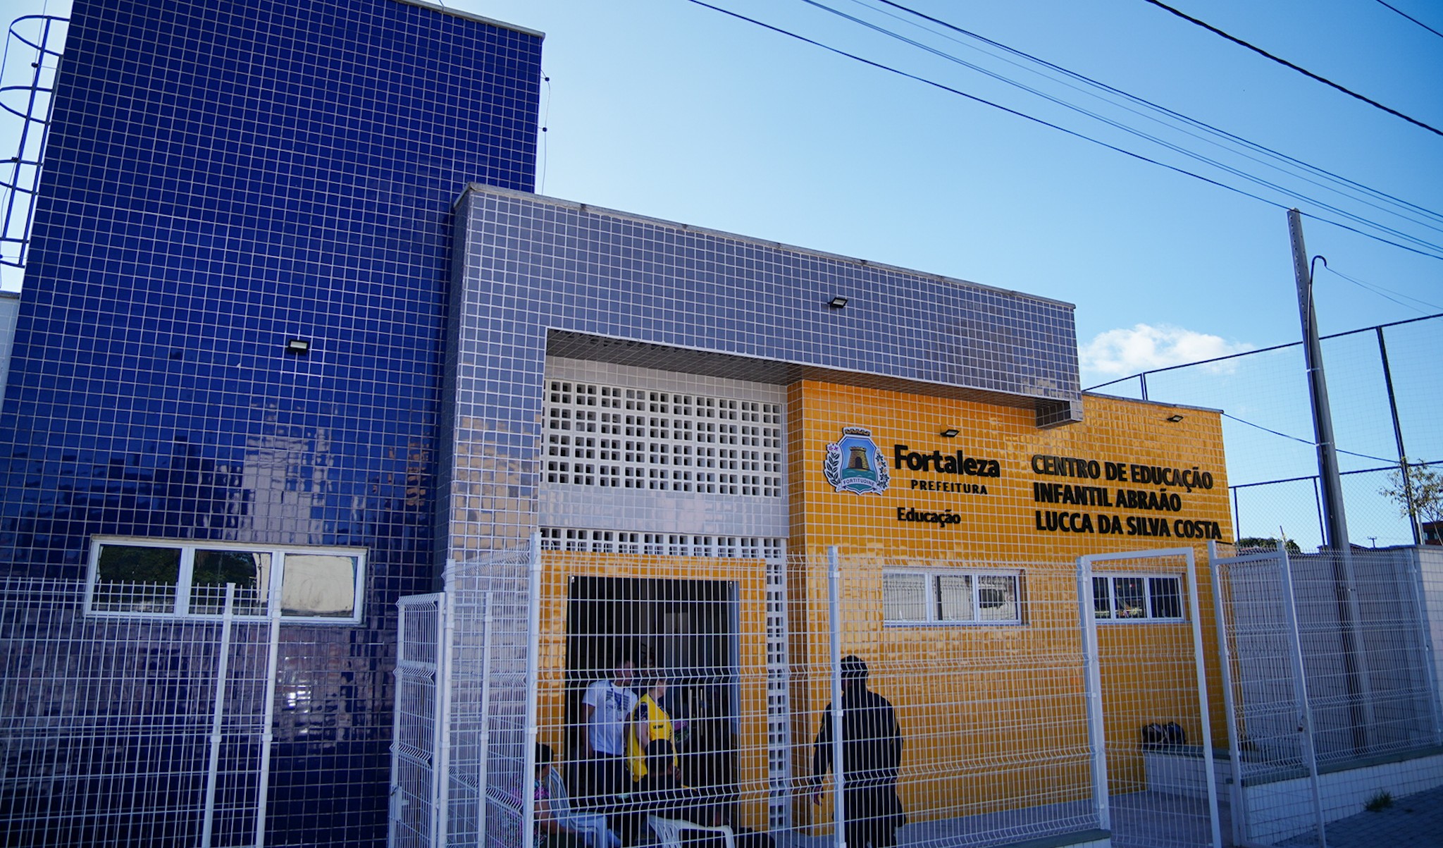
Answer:
<svg viewBox="0 0 1443 848"><path fill-rule="evenodd" d="M823 712L812 747L812 803L821 803L821 779L833 767L831 704ZM867 663L841 660L843 813L847 848L892 848L906 823L898 797L902 730L892 702L867 689Z"/></svg>

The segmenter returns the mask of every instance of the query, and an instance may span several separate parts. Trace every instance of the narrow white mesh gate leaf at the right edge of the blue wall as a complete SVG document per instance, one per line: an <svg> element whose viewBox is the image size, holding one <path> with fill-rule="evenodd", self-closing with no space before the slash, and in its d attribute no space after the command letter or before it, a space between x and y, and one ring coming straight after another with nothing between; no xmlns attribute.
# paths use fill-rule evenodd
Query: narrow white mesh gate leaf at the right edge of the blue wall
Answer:
<svg viewBox="0 0 1443 848"><path fill-rule="evenodd" d="M446 594L410 595L400 608L388 844L446 844Z"/></svg>

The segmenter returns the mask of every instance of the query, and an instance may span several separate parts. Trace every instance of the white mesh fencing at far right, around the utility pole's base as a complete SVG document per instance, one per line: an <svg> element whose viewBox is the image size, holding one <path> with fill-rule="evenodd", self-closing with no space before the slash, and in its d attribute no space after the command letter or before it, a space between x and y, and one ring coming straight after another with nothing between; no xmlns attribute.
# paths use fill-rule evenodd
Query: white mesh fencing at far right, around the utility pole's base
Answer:
<svg viewBox="0 0 1443 848"><path fill-rule="evenodd" d="M1319 844L1367 792L1443 784L1424 553L1215 559L1238 839Z"/></svg>

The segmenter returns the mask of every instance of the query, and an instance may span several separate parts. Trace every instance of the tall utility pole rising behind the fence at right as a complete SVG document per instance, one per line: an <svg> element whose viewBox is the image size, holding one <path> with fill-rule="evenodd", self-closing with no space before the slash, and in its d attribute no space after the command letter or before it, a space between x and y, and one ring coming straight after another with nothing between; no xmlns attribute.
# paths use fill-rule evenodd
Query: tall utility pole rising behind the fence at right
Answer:
<svg viewBox="0 0 1443 848"><path fill-rule="evenodd" d="M1343 484L1338 474L1333 415L1328 406L1328 381L1323 378L1323 345L1317 341L1317 313L1313 311L1313 269L1303 246L1303 214L1297 209L1287 211L1287 233L1293 240L1297 313L1303 319L1303 361L1307 365L1307 393L1313 400L1313 441L1317 442L1317 478L1323 493L1323 549L1333 566L1333 601L1342 636L1354 751L1364 754L1369 750L1368 737L1374 724L1372 685L1368 656L1358 633L1358 594L1354 591L1356 576L1352 568L1352 546L1348 543L1348 519L1343 514Z"/></svg>

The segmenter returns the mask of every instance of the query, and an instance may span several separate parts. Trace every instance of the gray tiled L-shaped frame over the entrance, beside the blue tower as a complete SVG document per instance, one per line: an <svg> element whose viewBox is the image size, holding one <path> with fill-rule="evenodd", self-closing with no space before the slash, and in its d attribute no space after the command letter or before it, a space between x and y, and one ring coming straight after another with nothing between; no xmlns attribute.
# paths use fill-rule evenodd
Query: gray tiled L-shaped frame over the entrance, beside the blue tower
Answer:
<svg viewBox="0 0 1443 848"><path fill-rule="evenodd" d="M439 513L453 559L537 526L548 350L1027 406L1039 426L1079 416L1068 303L479 185L456 227Z"/></svg>

